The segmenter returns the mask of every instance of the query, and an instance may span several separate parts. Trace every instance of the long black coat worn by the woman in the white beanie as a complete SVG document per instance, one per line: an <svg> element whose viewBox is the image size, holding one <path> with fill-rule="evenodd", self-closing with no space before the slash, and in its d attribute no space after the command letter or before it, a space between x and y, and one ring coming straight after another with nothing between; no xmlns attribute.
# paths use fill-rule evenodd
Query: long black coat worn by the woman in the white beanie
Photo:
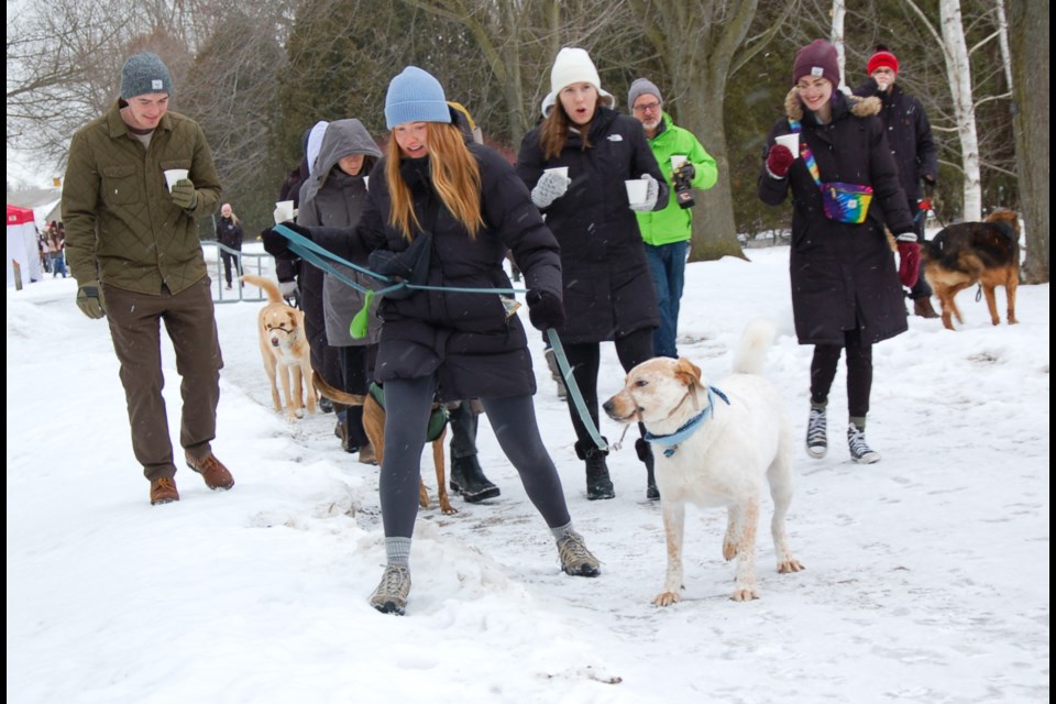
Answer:
<svg viewBox="0 0 1056 704"><path fill-rule="evenodd" d="M638 219L625 180L649 174L660 186L653 210L668 205L668 185L646 141L641 123L598 106L591 122L591 147L569 135L564 148L544 160L539 128L527 135L517 174L535 188L543 169L568 166L572 184L543 212L561 245L564 276L564 342L601 342L660 324L657 295L646 263ZM521 266L516 252L514 258Z"/></svg>

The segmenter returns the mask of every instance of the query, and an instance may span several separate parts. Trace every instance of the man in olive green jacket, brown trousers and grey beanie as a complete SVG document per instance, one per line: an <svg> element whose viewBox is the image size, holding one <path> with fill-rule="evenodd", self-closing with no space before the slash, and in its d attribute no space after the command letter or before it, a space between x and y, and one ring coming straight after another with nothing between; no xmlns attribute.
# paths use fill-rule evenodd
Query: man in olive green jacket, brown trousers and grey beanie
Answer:
<svg viewBox="0 0 1056 704"><path fill-rule="evenodd" d="M220 179L201 128L168 112L172 92L156 54L129 57L120 98L74 134L63 187L77 307L110 324L132 449L152 504L179 501L162 397L162 320L183 376L179 442L187 464L209 488L234 485L210 446L223 360L196 222L220 204ZM182 178L169 188L173 169Z"/></svg>

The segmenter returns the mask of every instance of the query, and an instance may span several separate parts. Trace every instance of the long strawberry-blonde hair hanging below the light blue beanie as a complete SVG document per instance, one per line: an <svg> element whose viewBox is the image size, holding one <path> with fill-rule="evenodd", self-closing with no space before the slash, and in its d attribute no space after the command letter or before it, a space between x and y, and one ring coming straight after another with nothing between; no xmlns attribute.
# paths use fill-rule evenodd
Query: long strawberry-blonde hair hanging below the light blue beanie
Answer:
<svg viewBox="0 0 1056 704"><path fill-rule="evenodd" d="M429 140L429 174L432 187L440 200L451 211L454 219L469 231L470 239L484 227L481 216L481 167L465 145L462 132L453 124L427 122L426 135ZM414 239L413 228L421 228L418 213L415 212L410 188L399 175L399 144L396 134L389 134L388 161L385 178L392 196L388 223L398 228L409 242Z"/></svg>

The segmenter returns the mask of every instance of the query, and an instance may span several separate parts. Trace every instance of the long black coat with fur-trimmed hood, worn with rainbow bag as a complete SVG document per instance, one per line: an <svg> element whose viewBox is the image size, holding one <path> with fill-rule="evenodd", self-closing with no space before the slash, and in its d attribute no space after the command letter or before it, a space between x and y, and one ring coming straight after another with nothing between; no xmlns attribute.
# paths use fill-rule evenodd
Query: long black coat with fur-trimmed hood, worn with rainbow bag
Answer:
<svg viewBox="0 0 1056 704"><path fill-rule="evenodd" d="M787 178L759 174L759 197L777 206L792 191L792 251L790 274L792 311L801 344L843 345L844 332L860 328L862 340L879 342L908 328L902 286L894 267L883 218L895 234L913 232L905 194L875 116L876 98L845 98L836 94L833 119L818 124L804 110L793 89L785 99L787 114L800 120L800 140L810 145L821 179L872 186L869 217L861 224L831 220L822 195L803 158L796 158ZM779 120L767 138L789 134L787 119Z"/></svg>

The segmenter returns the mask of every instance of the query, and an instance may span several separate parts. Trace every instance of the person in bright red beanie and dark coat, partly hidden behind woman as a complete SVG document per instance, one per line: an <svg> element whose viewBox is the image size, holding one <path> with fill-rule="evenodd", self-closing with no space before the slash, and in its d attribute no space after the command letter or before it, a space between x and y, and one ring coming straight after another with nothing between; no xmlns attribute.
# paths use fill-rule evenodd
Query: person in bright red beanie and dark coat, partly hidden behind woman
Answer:
<svg viewBox="0 0 1056 704"><path fill-rule="evenodd" d="M887 46L877 46L866 64L866 72L869 77L854 92L856 96L880 98L880 121L883 122L888 145L899 167L899 182L909 199L910 212L915 216L916 235L923 240L926 212L919 208L921 180L933 187L938 179L938 153L932 139L932 125L921 101L895 84L899 59ZM923 268L919 272L916 284L910 289L910 298L915 315L938 318L932 307L932 287L924 278Z"/></svg>

